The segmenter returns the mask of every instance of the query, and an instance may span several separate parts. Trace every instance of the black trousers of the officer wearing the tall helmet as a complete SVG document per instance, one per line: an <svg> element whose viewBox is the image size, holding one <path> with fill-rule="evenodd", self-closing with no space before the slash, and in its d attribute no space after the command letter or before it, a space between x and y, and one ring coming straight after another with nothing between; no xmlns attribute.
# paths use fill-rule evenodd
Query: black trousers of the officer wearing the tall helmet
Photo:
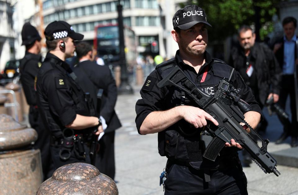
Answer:
<svg viewBox="0 0 298 195"><path fill-rule="evenodd" d="M34 106L30 106L29 123L31 128L34 128L38 134L38 139L34 143L34 148L40 150L43 167L43 180L47 180L52 177L52 174L55 171L50 152L50 133L47 132L44 127L38 113L38 109Z"/></svg>

